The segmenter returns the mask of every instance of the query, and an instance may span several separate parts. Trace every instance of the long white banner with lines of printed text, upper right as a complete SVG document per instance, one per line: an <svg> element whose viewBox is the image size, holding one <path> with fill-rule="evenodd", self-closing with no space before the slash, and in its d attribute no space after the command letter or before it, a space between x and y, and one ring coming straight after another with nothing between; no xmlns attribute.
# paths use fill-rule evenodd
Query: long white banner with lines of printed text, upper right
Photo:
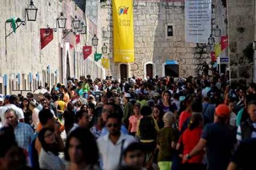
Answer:
<svg viewBox="0 0 256 170"><path fill-rule="evenodd" d="M211 0L185 0L186 42L208 42L211 35L211 5Z"/></svg>

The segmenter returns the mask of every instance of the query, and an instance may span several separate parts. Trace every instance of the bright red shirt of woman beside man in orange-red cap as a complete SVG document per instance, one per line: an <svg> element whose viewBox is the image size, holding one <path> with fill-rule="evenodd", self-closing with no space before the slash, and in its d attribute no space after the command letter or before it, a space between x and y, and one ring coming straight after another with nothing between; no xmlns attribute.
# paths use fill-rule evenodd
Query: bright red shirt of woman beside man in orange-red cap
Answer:
<svg viewBox="0 0 256 170"><path fill-rule="evenodd" d="M198 144L201 135L202 135L203 129L202 128L194 128L193 130L189 130L187 128L183 134L180 136L180 144L183 145L183 155L187 155L190 153L193 148ZM183 160L182 163L198 163L202 164L202 160L204 158L204 151L201 151L197 155L191 157L189 160L185 161Z"/></svg>

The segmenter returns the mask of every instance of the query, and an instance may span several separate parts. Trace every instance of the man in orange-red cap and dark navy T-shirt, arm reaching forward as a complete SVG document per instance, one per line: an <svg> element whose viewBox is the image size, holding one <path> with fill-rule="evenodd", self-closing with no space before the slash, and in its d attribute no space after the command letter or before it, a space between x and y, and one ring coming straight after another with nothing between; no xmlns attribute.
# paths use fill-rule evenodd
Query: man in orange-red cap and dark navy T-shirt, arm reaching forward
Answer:
<svg viewBox="0 0 256 170"><path fill-rule="evenodd" d="M189 160L206 148L207 169L227 169L231 151L236 143L236 135L227 124L229 117L228 106L225 104L218 105L215 109L214 123L205 125L200 141L190 153L183 156L183 159Z"/></svg>

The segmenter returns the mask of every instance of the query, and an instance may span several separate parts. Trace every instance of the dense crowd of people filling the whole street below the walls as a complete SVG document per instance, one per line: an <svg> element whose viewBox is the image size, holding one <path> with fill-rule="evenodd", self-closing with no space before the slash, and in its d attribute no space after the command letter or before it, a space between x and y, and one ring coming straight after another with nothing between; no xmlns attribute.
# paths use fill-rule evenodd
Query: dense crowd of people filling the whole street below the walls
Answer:
<svg viewBox="0 0 256 170"><path fill-rule="evenodd" d="M0 170L255 167L255 83L87 75L45 89L0 96Z"/></svg>

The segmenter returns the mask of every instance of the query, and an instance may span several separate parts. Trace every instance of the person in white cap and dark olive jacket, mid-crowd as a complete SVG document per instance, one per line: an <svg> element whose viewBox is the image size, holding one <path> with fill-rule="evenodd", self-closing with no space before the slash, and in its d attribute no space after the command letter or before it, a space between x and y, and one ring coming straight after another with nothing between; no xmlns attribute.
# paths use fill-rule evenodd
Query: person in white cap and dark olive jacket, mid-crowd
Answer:
<svg viewBox="0 0 256 170"><path fill-rule="evenodd" d="M133 105L130 102L131 95L130 93L125 93L123 97L124 102L124 117L123 117L123 123L125 127L128 129L129 127L129 118L132 116L133 113Z"/></svg>

